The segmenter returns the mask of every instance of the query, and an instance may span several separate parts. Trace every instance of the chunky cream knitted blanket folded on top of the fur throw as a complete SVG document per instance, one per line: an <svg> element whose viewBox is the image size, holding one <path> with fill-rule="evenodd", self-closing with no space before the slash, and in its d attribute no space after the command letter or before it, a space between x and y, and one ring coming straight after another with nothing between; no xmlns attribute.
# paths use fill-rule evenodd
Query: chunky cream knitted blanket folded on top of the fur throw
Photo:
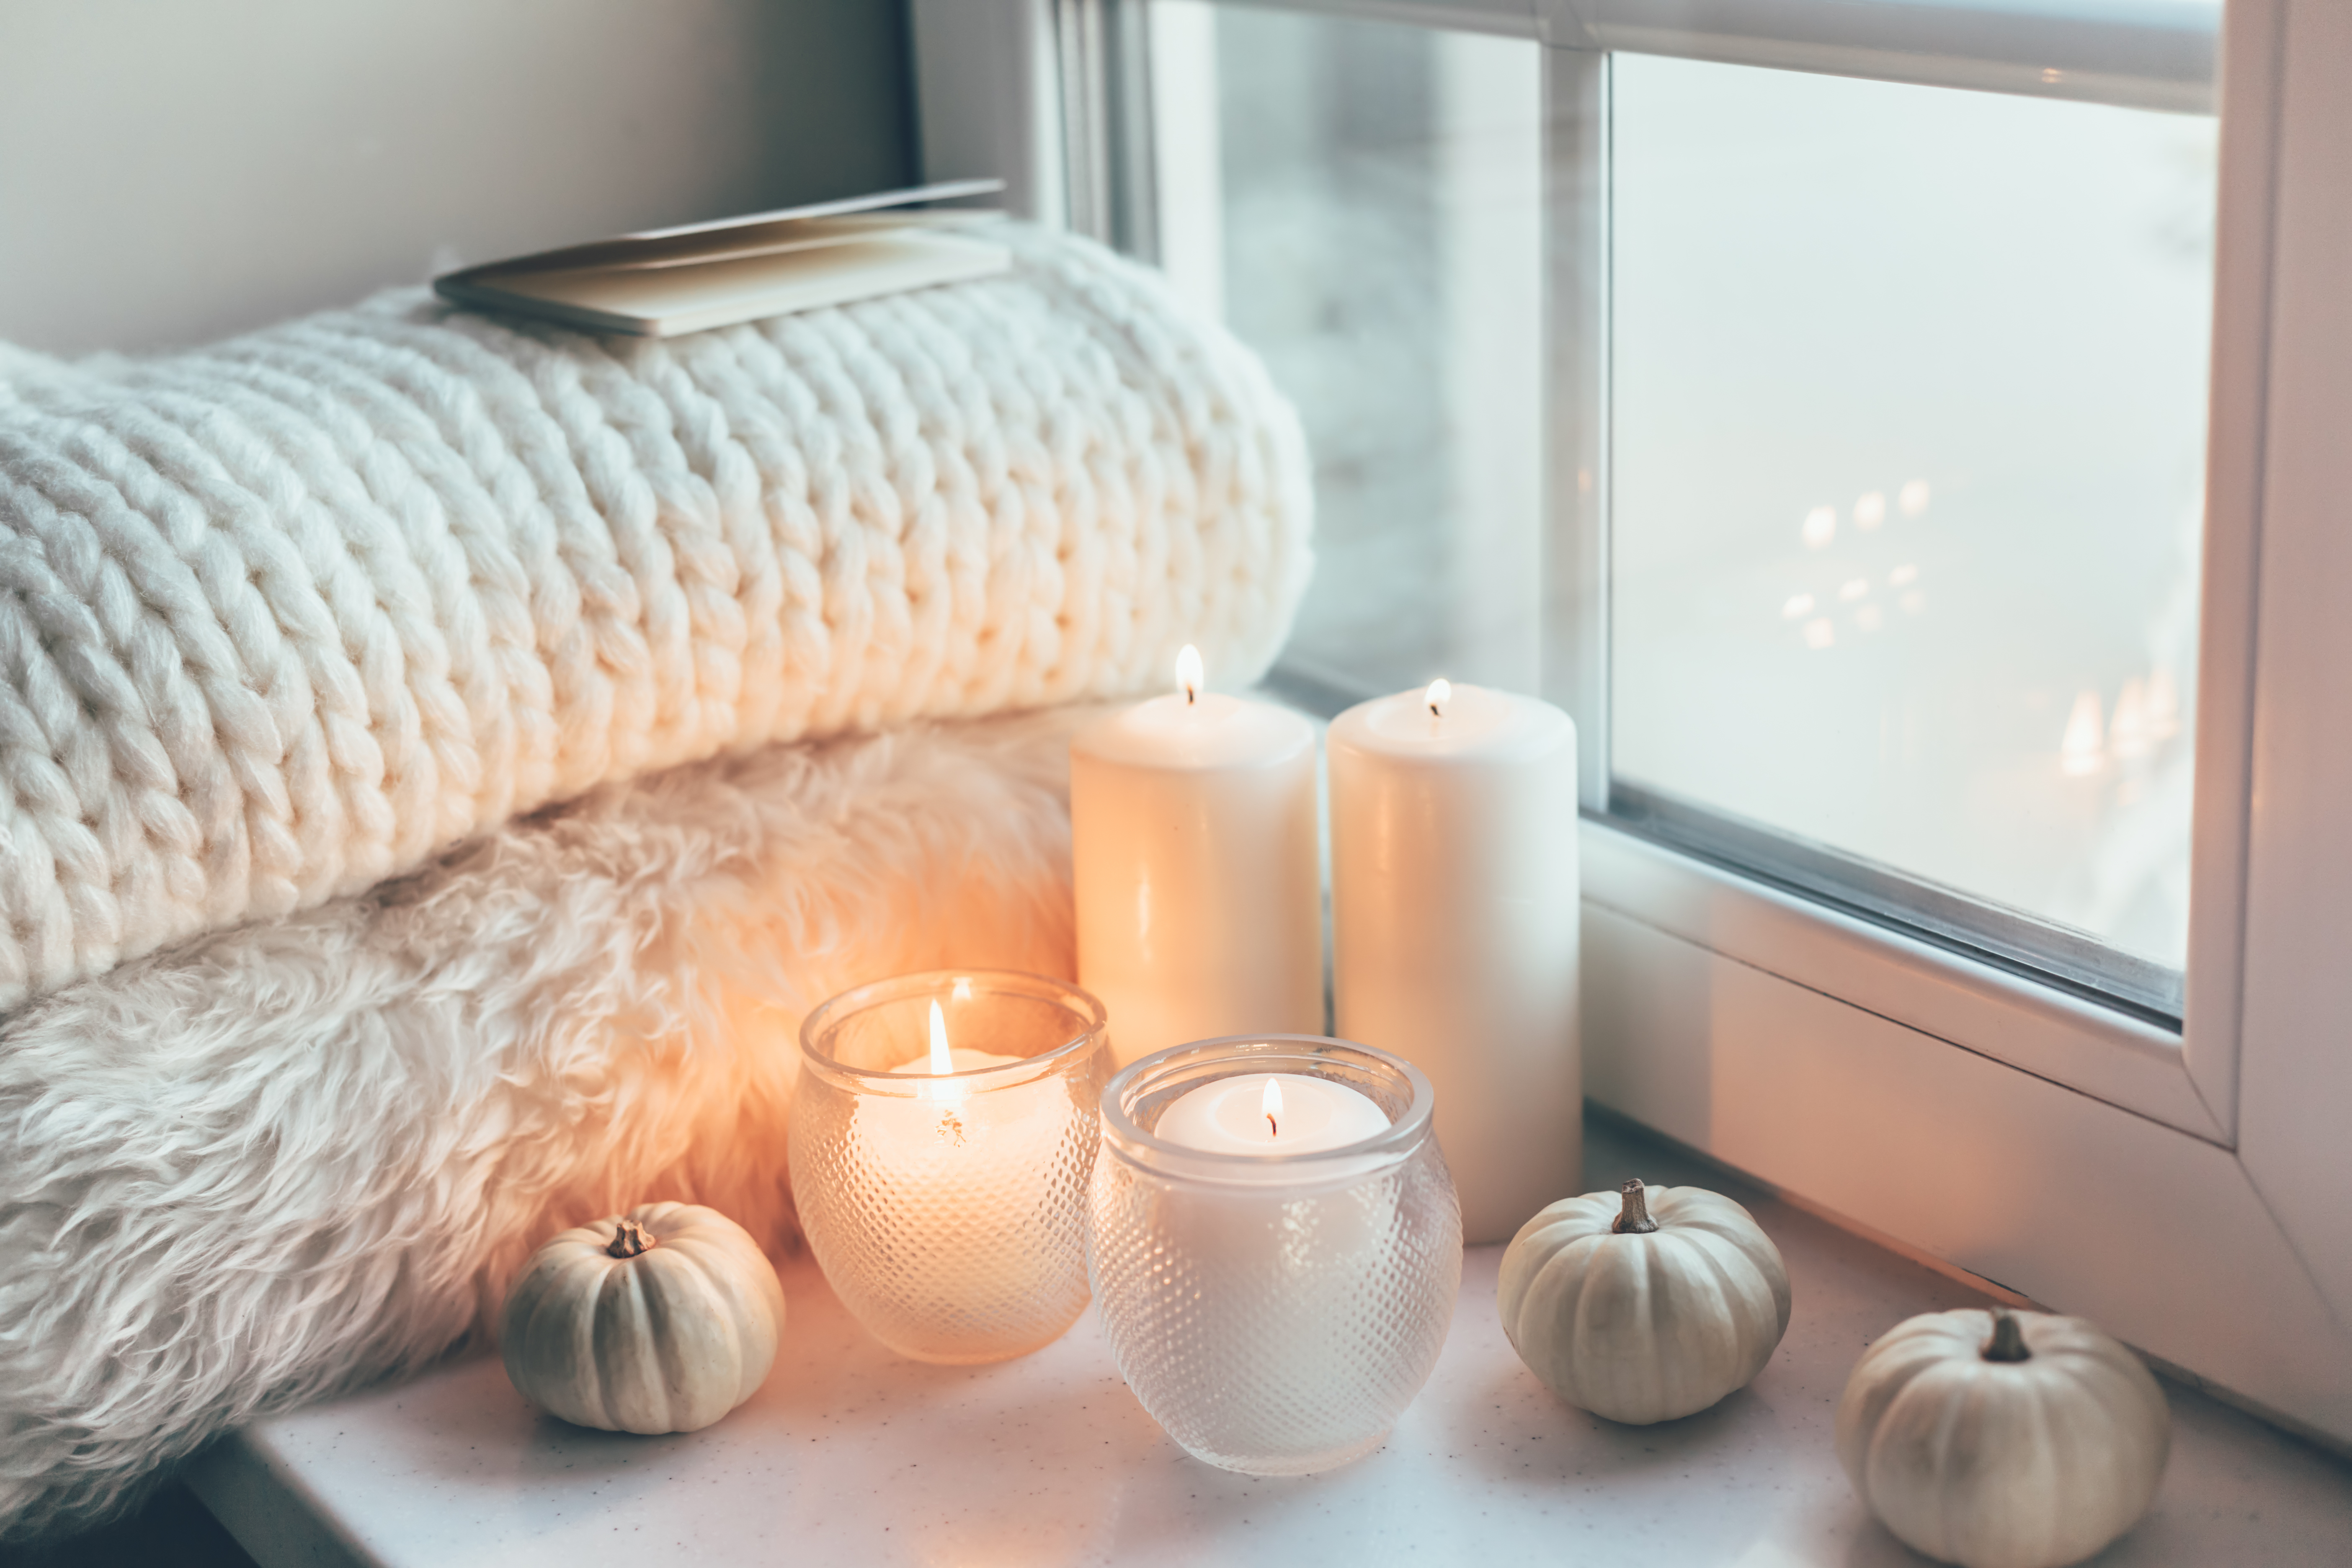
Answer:
<svg viewBox="0 0 2352 1568"><path fill-rule="evenodd" d="M1155 273L652 343L416 289L0 350L0 1006L771 741L1251 679L1305 447ZM207 1241L209 1246L212 1241Z"/></svg>

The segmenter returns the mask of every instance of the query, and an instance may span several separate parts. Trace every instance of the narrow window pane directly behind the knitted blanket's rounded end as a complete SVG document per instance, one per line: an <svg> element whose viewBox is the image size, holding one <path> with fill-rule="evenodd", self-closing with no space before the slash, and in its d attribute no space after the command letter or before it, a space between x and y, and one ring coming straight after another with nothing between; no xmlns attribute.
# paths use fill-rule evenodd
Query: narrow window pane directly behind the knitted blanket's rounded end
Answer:
<svg viewBox="0 0 2352 1568"><path fill-rule="evenodd" d="M1160 0L1150 52L1162 266L1265 355L1315 451L1284 672L1534 689L1536 45Z"/></svg>

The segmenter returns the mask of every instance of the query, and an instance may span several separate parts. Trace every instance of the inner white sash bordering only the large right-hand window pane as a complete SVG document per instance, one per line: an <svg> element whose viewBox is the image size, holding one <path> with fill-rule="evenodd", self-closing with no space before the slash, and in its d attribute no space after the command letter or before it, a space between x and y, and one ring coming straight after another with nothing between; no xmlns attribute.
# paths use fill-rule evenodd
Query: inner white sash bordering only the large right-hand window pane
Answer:
<svg viewBox="0 0 2352 1568"><path fill-rule="evenodd" d="M1926 49L1952 42L1950 19L1971 9L1964 0L1886 7L1891 21L1865 40L1870 47L1823 42L1823 33L1839 21L1870 14L1870 7L1837 0L1828 5L1715 0L1710 7L1677 7L1684 16L1708 12L1717 21L1748 24L1736 33L1663 28L1656 24L1661 7L1642 0L1538 0L1538 5L1548 9L1538 40L1545 42L1552 134L1548 167L1555 179L1548 195L1552 317L1545 336L1552 346L1550 454L1557 468L1545 494L1552 508L1548 531L1564 545L1555 555L1545 616L1545 628L1555 637L1545 649L1545 696L1576 717L1583 743L1578 804L1585 813L1585 856L1588 865L1602 865L1597 875L1592 870L1585 875L1588 900L1597 898L1658 931L1811 990L1846 997L1947 1044L2004 1060L2194 1138L2232 1145L2234 1011L2199 1004L2211 992L2237 992L2241 912L2234 889L2244 882L2244 832L2234 823L2244 816L2249 712L2244 682L2234 679L2234 672L2244 668L2253 635L2253 604L2241 564L2258 522L2258 487L2246 458L2260 444L2260 397L2251 395L2258 388L2246 376L2251 364L2244 357L2223 364L2223 334L2216 327L2199 670L2216 670L2218 679L2199 677L2187 961L2194 994L2183 1009L2180 1030L2126 1009L2086 1001L2065 985L2037 978L2018 983L2020 976L2011 966L1971 954L1959 943L1938 943L1922 931L1900 931L1867 917L1856 919L1813 889L1776 886L1733 856L1708 858L1703 849L1708 835L1658 832L1611 809L1609 54L1585 45L1616 45L1630 38L1642 42L1644 52L1835 73L1867 63L1872 78L1879 78L1877 66L1891 66L1886 80L2126 103L2164 101L2171 94L2176 108L2194 108L2199 96L2211 106L2213 94L2180 92L2178 82L2140 82L2117 92L2112 75L2089 78L2086 87L2082 73L2058 85L2042 82L2030 61L2046 54L2037 56L2034 47L2067 47L2072 52L2058 59L2070 63L2096 49L2096 38L2072 35L2027 38L2018 59L1969 59L1938 71ZM1771 28L1806 42L1773 40ZM1903 35L1903 28L1912 28L1915 35ZM1573 47L1559 47L1555 42L1559 38ZM1978 35L1971 42L1985 40ZM2173 49L2169 63L2192 68L2194 56L2180 59L2183 54ZM2256 275L2260 273L2258 252L2267 235L2260 212L2249 209L2244 200L2258 181L2244 179L2244 169L2227 167L2232 153L2244 153L2244 136L2230 139L2225 129L2223 212L2216 223L2216 289L2223 299L2249 273L2249 263ZM2267 158L2267 148L2260 150ZM2216 317L2218 313L2220 308ZM1665 853L1642 856L1639 846ZM2201 896L2209 886L2223 889L2223 896Z"/></svg>

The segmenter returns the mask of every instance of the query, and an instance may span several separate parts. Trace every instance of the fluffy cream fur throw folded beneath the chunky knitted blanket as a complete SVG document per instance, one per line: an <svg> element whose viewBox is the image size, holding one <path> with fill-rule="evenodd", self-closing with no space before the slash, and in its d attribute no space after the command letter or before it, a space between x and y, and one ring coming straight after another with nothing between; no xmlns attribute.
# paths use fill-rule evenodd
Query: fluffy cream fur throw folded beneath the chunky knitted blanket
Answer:
<svg viewBox="0 0 2352 1568"><path fill-rule="evenodd" d="M0 1027L0 1533L496 1319L564 1225L793 1241L800 1016L936 966L1073 973L1070 710L607 788L362 898Z"/></svg>

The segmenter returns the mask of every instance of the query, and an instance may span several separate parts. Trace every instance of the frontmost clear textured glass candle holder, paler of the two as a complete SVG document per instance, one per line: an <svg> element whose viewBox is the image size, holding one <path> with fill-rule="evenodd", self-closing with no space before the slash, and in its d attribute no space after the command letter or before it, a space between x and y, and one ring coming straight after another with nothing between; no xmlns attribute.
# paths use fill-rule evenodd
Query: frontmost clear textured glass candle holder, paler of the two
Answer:
<svg viewBox="0 0 2352 1568"><path fill-rule="evenodd" d="M1390 1126L1308 1154L1155 1135L1181 1098L1240 1074L1329 1079ZM1430 1105L1402 1058L1312 1034L1176 1046L1103 1091L1094 1298L1127 1387L1190 1455L1256 1476L1334 1469L1378 1448L1428 1382L1463 1269Z"/></svg>

